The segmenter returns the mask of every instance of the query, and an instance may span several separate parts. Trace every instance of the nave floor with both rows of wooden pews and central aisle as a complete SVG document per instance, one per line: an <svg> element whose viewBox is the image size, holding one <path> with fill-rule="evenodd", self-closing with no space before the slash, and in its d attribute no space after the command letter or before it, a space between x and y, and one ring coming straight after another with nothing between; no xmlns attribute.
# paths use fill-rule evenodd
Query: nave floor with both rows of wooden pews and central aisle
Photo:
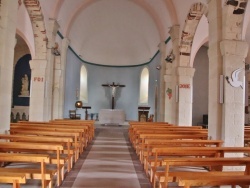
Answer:
<svg viewBox="0 0 250 188"><path fill-rule="evenodd" d="M66 149L56 144L59 138L63 145L64 137L71 132L78 135L75 141L79 142L71 142L74 147ZM58 134L57 139L55 134ZM0 150L8 151L0 155L0 161L8 161L7 168L1 168L0 181L4 177L3 173L12 171L9 179L13 180L13 188L19 188L14 186L14 181L18 181L15 178L17 173L22 176L20 170L25 173L27 180L24 184L19 182L22 188L190 188L250 185L250 148L247 145L223 146L222 140L208 139L207 129L202 129L201 126L174 126L161 122L129 122L129 126L94 125L94 122L77 120L19 122L11 124L10 134L0 135L0 138L9 140L0 143ZM69 144L70 139L67 140ZM65 152L57 152L59 160L54 160L54 153L51 153L55 151L54 146ZM82 150L83 146L87 147ZM70 152L70 148L74 152ZM66 158L63 158L63 154L67 154L64 155ZM9 157L4 158L5 155ZM24 155L26 157L20 160L15 157ZM46 166L43 167L41 163L38 168L27 168L25 163L12 163L28 162L30 165L37 162L34 161L35 158L50 160L43 161ZM75 161L72 166L69 163L71 159ZM24 166L20 166L21 164ZM49 168L49 165L55 164L59 164L56 165L56 171ZM48 177L50 171L53 174ZM47 184L50 182L52 184ZM11 185L0 184L0 187L10 188Z"/></svg>

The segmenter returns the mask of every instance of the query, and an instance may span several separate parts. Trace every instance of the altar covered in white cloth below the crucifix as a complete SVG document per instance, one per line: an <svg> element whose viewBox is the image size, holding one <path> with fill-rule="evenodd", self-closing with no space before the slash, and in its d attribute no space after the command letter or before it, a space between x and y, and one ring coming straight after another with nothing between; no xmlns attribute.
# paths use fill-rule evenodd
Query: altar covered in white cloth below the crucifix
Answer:
<svg viewBox="0 0 250 188"><path fill-rule="evenodd" d="M125 122L125 112L121 109L101 109L99 121L101 124L123 124Z"/></svg>

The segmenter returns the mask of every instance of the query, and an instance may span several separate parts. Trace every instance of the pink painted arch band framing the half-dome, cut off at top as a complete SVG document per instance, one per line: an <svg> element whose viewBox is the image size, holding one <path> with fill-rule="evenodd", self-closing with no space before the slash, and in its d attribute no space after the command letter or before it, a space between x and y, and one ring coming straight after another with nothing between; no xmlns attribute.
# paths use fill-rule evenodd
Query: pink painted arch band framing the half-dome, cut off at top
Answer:
<svg viewBox="0 0 250 188"><path fill-rule="evenodd" d="M160 39L165 40L164 39L165 29L164 29L163 25L161 24L160 18L158 17L157 13L145 1L140 1L140 0L131 0L131 1L134 2L135 4L137 4L138 6L142 7L152 17L152 19L154 20L156 27L158 29ZM83 2L82 5L79 6L75 11L73 11L73 13L72 13L71 17L68 19L66 27L63 31L63 35L65 37L68 37L71 26L74 23L77 16L80 14L80 12L96 2L98 2L98 0L87 0L87 1Z"/></svg>

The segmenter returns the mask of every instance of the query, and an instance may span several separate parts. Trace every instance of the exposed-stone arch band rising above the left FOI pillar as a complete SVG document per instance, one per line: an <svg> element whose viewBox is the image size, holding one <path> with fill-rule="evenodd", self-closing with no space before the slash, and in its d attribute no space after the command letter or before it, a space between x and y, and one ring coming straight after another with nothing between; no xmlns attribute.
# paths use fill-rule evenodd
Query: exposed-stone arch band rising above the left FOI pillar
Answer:
<svg viewBox="0 0 250 188"><path fill-rule="evenodd" d="M33 28L35 41L35 58L46 59L47 36L40 2L39 0L24 0L24 5L27 8Z"/></svg>

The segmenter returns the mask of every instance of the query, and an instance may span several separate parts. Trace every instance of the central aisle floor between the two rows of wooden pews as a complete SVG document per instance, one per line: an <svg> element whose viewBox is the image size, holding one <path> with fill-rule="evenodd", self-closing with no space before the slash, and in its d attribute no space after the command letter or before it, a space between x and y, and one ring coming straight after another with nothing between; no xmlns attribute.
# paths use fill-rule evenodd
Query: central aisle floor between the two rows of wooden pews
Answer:
<svg viewBox="0 0 250 188"><path fill-rule="evenodd" d="M128 141L128 126L96 125L95 139L61 188L151 188Z"/></svg>

